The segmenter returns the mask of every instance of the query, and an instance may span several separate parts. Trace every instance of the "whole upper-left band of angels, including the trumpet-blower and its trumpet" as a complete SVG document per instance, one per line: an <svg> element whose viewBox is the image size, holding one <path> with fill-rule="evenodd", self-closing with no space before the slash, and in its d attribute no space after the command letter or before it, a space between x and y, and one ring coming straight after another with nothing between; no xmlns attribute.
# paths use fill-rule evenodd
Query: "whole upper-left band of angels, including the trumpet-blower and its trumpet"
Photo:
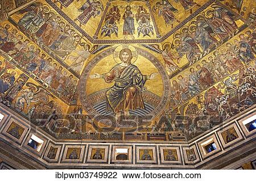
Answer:
<svg viewBox="0 0 256 181"><path fill-rule="evenodd" d="M17 23L18 28L77 76L90 54L109 46L92 47L60 15L40 2L32 3L16 13L22 15Z"/></svg>

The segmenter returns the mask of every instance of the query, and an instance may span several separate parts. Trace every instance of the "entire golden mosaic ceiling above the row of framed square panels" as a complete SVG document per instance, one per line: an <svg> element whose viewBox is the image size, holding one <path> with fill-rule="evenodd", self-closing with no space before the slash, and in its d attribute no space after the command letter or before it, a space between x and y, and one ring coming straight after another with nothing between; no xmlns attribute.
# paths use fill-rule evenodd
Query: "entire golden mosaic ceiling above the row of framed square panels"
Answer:
<svg viewBox="0 0 256 181"><path fill-rule="evenodd" d="M0 101L60 139L188 141L256 101L256 2L0 4Z"/></svg>

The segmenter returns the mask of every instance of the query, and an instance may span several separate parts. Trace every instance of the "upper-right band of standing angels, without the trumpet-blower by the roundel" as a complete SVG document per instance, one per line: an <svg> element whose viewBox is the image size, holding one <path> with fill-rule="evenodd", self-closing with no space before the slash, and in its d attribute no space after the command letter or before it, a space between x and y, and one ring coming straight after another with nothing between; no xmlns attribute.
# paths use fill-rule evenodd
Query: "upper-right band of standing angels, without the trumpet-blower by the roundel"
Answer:
<svg viewBox="0 0 256 181"><path fill-rule="evenodd" d="M180 57L185 56L192 65L202 56L209 53L218 42L232 36L238 31L238 18L224 7L212 5L212 9L198 15L174 34L172 45ZM203 50L203 53L201 53Z"/></svg>

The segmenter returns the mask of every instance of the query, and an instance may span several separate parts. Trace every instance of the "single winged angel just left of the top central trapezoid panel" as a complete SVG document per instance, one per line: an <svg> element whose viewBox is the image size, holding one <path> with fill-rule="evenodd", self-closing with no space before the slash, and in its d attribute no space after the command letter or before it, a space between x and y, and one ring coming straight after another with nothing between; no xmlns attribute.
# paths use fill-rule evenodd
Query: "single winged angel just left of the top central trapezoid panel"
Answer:
<svg viewBox="0 0 256 181"><path fill-rule="evenodd" d="M86 0L84 5L78 9L79 12L82 12L75 20L80 22L79 26L86 24L90 18L95 18L96 15L100 15L101 11L104 10L102 2L100 0Z"/></svg>

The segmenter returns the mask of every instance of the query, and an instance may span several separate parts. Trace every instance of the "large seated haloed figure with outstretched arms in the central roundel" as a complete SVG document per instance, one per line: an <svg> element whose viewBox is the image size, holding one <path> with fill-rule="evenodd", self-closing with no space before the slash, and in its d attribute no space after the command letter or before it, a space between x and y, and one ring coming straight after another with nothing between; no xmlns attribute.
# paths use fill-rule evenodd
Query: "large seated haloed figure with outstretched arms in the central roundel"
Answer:
<svg viewBox="0 0 256 181"><path fill-rule="evenodd" d="M122 49L119 58L121 64L115 65L109 73L90 75L90 78L103 78L114 85L106 92L106 111L113 111L117 116L121 112L129 116L129 110L144 108L142 90L147 80L155 79L158 73L142 75L139 68L131 64L133 54L130 49Z"/></svg>

